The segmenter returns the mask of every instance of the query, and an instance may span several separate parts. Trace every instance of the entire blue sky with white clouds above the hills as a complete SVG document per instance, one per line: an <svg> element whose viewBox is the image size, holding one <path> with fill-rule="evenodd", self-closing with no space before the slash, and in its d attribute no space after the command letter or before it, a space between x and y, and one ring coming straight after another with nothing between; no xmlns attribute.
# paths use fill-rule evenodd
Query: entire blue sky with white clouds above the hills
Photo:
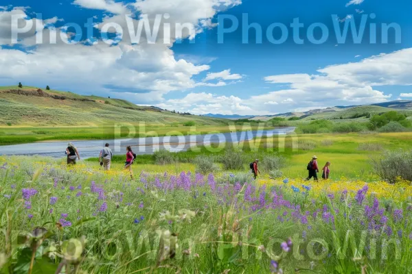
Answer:
<svg viewBox="0 0 412 274"><path fill-rule="evenodd" d="M412 99L411 8L406 0L0 0L0 86L48 85L192 114Z"/></svg>

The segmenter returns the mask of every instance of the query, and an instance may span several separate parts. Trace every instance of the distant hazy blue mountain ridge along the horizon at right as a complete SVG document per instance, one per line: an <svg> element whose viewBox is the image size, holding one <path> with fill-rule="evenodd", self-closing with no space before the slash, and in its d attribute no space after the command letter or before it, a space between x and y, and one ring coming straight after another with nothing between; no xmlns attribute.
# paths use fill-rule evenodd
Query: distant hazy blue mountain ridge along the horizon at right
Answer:
<svg viewBox="0 0 412 274"><path fill-rule="evenodd" d="M250 120L266 121L266 120L273 119L275 117L290 118L290 117L296 116L296 117L304 118L304 117L311 116L313 114L319 114L319 113L325 113L325 112L339 112L341 110L347 110L350 108L357 108L357 107L364 107L364 106L378 106L382 108L393 108L395 110L412 110L412 100L397 100L397 101L389 101L389 102L383 102L383 103L371 103L371 104L366 104L366 105L337 105L331 108L314 109L314 110L308 110L306 112L286 112L286 113L274 114L274 115L256 116L256 115L237 115L237 114L224 115L224 114L208 113L208 114L205 114L204 116L222 118L222 119L231 119L231 120L250 119Z"/></svg>

